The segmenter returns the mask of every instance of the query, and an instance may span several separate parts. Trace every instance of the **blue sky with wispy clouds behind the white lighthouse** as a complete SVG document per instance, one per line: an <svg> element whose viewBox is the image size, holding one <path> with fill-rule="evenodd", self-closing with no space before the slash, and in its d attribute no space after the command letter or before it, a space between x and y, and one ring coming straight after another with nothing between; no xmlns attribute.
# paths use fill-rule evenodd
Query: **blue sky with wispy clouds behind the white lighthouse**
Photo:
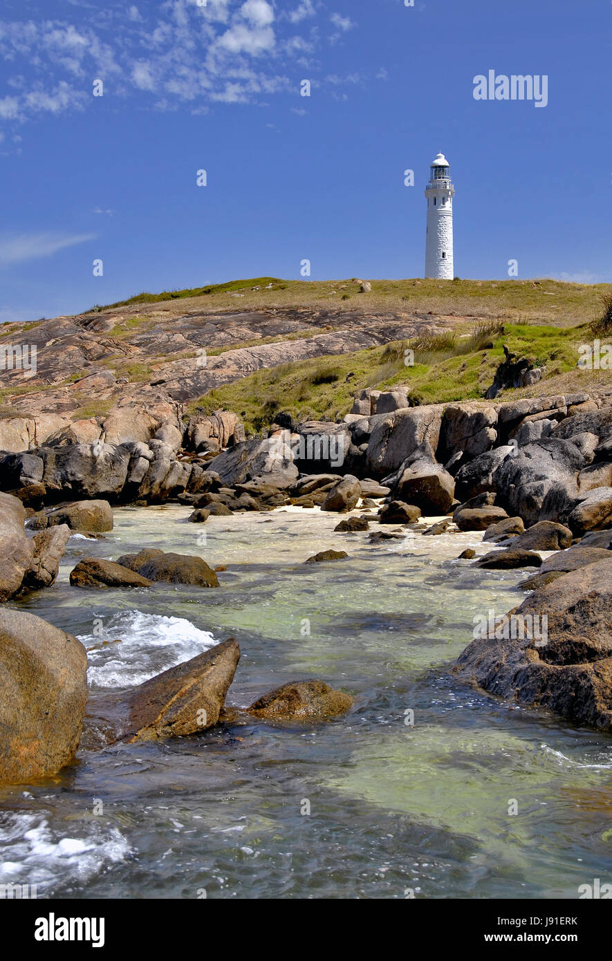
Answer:
<svg viewBox="0 0 612 961"><path fill-rule="evenodd" d="M4 0L0 322L420 277L439 150L457 275L612 282L611 37L608 0ZM489 70L548 105L475 100Z"/></svg>

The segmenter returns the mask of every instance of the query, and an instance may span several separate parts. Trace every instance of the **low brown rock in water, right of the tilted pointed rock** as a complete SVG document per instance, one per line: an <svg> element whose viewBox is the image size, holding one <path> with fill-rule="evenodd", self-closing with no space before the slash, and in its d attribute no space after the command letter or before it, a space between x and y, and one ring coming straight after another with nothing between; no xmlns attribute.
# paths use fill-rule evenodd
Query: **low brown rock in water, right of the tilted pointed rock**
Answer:
<svg viewBox="0 0 612 961"><path fill-rule="evenodd" d="M352 697L322 680L302 680L269 691L248 711L266 721L317 721L344 714L352 705Z"/></svg>

